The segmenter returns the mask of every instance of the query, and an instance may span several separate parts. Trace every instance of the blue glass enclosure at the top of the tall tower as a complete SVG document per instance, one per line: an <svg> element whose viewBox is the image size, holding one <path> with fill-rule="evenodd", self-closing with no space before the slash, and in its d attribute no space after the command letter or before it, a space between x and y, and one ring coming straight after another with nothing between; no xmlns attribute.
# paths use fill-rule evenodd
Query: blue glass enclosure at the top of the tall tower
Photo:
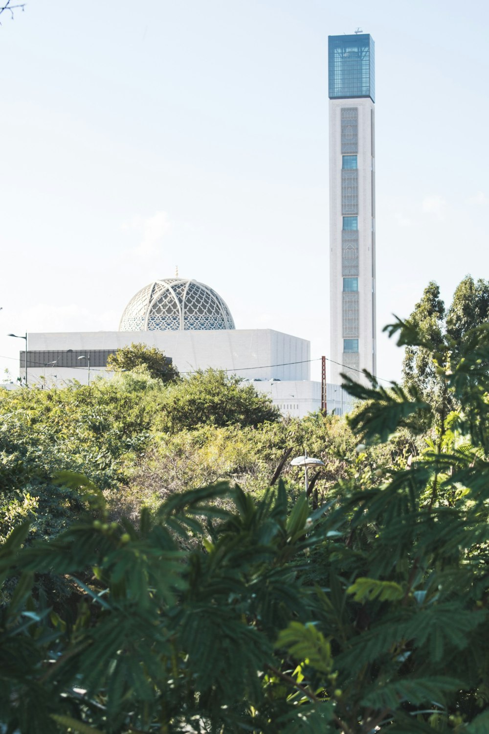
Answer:
<svg viewBox="0 0 489 734"><path fill-rule="evenodd" d="M369 33L328 36L329 98L375 102L375 44Z"/></svg>

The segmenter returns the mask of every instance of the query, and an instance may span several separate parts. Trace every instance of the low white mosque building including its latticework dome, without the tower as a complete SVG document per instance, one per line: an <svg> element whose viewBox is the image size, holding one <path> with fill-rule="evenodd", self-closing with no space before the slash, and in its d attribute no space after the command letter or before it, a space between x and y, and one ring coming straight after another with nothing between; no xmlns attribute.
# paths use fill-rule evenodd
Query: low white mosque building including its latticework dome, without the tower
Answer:
<svg viewBox="0 0 489 734"><path fill-rule="evenodd" d="M271 396L284 415L301 418L321 407L309 341L273 329L236 329L224 299L196 280L172 277L144 286L128 302L117 331L27 337L20 374L29 386L107 377L109 354L135 343L161 349L183 375L207 368L238 375ZM328 413L345 413L350 400L339 385L326 385Z"/></svg>

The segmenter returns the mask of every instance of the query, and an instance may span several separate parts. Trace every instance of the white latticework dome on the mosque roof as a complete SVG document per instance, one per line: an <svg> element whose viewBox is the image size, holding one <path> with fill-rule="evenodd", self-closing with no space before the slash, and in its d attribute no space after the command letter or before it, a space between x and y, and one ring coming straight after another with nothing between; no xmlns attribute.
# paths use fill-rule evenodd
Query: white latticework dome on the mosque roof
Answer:
<svg viewBox="0 0 489 734"><path fill-rule="evenodd" d="M130 299L120 331L234 329L235 322L216 291L196 280L155 280Z"/></svg>

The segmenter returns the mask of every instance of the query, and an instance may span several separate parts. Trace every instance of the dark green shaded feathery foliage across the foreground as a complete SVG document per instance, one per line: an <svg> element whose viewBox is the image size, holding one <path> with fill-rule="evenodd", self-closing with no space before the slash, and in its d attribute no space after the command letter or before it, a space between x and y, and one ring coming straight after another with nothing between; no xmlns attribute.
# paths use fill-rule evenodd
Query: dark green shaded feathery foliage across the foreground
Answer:
<svg viewBox="0 0 489 734"><path fill-rule="evenodd" d="M343 480L315 512L304 496L290 511L282 484L259 500L217 484L138 528L89 520L30 548L14 531L8 731L486 732L488 365L483 326L444 373L463 410L423 454ZM353 418L366 443L432 410L375 380L350 391L368 399ZM32 585L43 573L70 579L65 608Z"/></svg>

